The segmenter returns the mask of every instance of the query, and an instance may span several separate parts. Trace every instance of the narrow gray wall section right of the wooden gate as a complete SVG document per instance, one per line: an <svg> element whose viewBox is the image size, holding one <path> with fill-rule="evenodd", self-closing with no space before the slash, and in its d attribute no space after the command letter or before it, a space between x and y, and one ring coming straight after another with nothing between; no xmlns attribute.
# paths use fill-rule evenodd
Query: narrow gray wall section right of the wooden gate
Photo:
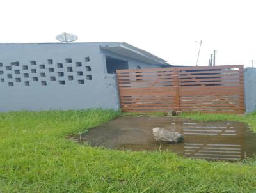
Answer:
<svg viewBox="0 0 256 193"><path fill-rule="evenodd" d="M256 68L245 68L244 89L246 113L256 111Z"/></svg>

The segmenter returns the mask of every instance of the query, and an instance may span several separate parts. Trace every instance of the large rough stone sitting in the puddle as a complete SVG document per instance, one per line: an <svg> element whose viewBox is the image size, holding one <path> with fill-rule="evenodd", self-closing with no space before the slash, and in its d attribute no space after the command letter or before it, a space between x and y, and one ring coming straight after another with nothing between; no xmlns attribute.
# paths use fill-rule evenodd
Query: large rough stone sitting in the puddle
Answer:
<svg viewBox="0 0 256 193"><path fill-rule="evenodd" d="M171 132L164 128L153 128L153 135L156 141L168 142L168 143L178 143L183 141L184 135L178 132Z"/></svg>

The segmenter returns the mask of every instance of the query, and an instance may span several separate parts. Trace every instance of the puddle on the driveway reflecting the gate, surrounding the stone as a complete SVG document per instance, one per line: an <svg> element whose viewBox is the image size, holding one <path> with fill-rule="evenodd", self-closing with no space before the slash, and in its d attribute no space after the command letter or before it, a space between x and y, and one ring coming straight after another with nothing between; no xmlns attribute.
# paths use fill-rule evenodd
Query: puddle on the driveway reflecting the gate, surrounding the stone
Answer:
<svg viewBox="0 0 256 193"><path fill-rule="evenodd" d="M152 128L184 134L182 143L158 143ZM256 153L256 134L245 123L200 123L184 118L124 116L77 137L92 146L132 151L172 151L184 157L238 161Z"/></svg>

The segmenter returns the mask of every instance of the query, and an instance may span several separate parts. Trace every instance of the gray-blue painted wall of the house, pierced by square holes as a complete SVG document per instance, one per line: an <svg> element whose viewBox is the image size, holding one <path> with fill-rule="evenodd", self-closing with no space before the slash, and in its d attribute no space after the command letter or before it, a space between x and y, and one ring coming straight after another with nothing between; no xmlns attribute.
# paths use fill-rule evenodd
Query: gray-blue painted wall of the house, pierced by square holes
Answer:
<svg viewBox="0 0 256 193"><path fill-rule="evenodd" d="M118 109L116 75L106 73L105 54L127 60L129 68L136 65L153 68L157 65L106 53L100 45L104 43L0 43L0 111ZM90 61L86 61L86 57L90 57ZM48 64L48 59L52 59L53 64ZM65 59L72 59L72 63L67 63ZM19 61L19 66L6 70L6 66L16 61ZM30 61L36 61L36 65L31 65ZM76 62L82 66L76 66ZM58 63L62 63L63 68L58 68ZM45 69L40 69L43 64ZM28 66L28 69L23 69L23 66ZM90 66L92 71L86 70L86 66ZM67 67L72 67L73 72L68 72ZM49 68L54 68L54 72L49 72ZM36 73L31 73L32 69ZM20 73L15 74L15 70ZM64 76L59 76L58 72L63 72ZM78 76L77 72L83 72L83 75ZM29 77L24 77L24 73L28 73ZM45 77L41 73L45 73ZM87 80L87 75L91 75L92 80ZM68 76L73 76L74 80L69 80ZM38 81L33 81L33 77L37 77ZM56 81L51 81L50 77L55 77ZM78 84L79 80L83 80L84 84ZM42 81L47 85L43 86ZM65 81L65 85L59 81ZM9 86L8 82L12 82L13 86Z"/></svg>

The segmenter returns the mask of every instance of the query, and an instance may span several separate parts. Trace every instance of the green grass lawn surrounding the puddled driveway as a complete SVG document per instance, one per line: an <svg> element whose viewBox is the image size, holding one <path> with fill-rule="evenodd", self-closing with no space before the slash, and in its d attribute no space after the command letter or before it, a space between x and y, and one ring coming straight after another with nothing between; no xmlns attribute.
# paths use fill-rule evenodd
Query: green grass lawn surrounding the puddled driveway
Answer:
<svg viewBox="0 0 256 193"><path fill-rule="evenodd" d="M255 159L207 162L67 139L119 115L100 109L0 113L0 192L256 192ZM256 131L256 114L182 116L245 121Z"/></svg>

